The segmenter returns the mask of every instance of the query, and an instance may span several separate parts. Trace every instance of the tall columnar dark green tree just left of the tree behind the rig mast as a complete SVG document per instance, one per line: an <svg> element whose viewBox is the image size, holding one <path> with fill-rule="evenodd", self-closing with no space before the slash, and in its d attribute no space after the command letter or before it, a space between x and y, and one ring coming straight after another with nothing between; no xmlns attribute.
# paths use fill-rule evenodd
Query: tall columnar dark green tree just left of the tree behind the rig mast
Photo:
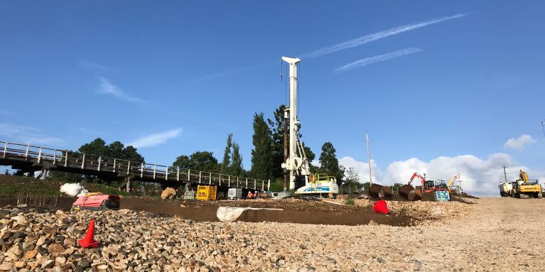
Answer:
<svg viewBox="0 0 545 272"><path fill-rule="evenodd" d="M254 114L254 136L252 136L252 178L267 180L272 176L274 152L271 130L265 123L263 113Z"/></svg>

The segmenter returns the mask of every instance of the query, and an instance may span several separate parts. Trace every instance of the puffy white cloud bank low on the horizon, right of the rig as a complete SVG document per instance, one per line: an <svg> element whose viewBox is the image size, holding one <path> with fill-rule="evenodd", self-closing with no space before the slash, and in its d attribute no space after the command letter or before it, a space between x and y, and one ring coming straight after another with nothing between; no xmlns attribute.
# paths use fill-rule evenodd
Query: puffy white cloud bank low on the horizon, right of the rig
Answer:
<svg viewBox="0 0 545 272"><path fill-rule="evenodd" d="M355 167L360 177L369 175L367 162L355 161L353 158L345 157L340 160L345 167ZM511 165L507 168L507 180L513 181L518 178L519 170L524 170L531 175L531 178L539 178L541 181L545 175L544 170L529 169L525 165L517 165L514 159L506 153L495 153L486 159L477 158L473 155L461 155L455 157L441 156L430 161L422 161L419 158L409 158L405 161L390 163L386 171L382 172L378 167L375 170L373 162L373 173L377 173L374 182L382 185L394 183L406 184L414 172L421 175L426 174L430 180L450 180L455 173L460 173L461 186L470 195L498 195L498 184L504 181L503 165ZM375 175L373 175L375 176ZM369 180L363 179L364 181ZM458 183L456 183L458 185Z"/></svg>

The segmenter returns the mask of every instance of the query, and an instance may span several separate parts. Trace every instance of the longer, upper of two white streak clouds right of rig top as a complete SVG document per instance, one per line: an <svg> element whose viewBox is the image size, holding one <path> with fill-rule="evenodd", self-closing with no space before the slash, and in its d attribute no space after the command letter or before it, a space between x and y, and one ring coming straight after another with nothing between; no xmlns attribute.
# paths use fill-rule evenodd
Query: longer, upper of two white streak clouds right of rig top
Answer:
<svg viewBox="0 0 545 272"><path fill-rule="evenodd" d="M433 18L433 19L431 19L429 21L423 21L423 22L419 22L419 23L411 23L411 24L404 25L404 26L396 26L395 28L390 28L390 29L385 30L385 31L379 31L377 33L368 34L368 35L362 36L360 38L355 38L355 39L347 40L345 42L338 43L338 44L335 44L335 45L330 45L330 46L325 47L325 48L320 48L320 49L315 50L315 51L313 51L311 53L301 55L300 58L315 58L315 57L320 57L320 56L323 56L323 55L328 55L330 53L334 53L334 52L337 52L339 50L345 50L345 49L348 49L348 48L354 48L356 46L365 45L366 43L371 43L372 41L375 41L375 40L380 40L382 38L386 38L386 37L389 37L389 36L394 36L394 35L404 33L404 32L407 32L407 31L413 31L415 29L423 28L424 26L430 26L430 25L433 25L435 23L441 23L443 21L448 21L448 20L452 20L452 19L455 19L455 18L461 18L461 17L466 16L466 15L467 14L465 14L465 13L460 13L460 14L456 14L456 15L453 15L453 16Z"/></svg>

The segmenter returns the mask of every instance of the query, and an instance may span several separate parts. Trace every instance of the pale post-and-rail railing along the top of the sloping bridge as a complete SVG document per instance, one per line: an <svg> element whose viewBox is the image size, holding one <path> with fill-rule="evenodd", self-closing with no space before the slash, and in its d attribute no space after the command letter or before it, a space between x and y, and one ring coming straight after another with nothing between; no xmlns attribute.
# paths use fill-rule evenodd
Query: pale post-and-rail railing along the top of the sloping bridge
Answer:
<svg viewBox="0 0 545 272"><path fill-rule="evenodd" d="M0 156L6 158L17 156L25 161L35 159L38 163L50 161L53 165L112 172L124 175L139 175L140 178L165 181L191 181L195 183L219 185L227 187L244 187L254 190L265 190L267 181L254 178L244 178L222 173L212 173L187 168L175 168L168 165L128 161L121 158L109 158L87 153L72 152L55 148L44 148L30 144L0 141Z"/></svg>

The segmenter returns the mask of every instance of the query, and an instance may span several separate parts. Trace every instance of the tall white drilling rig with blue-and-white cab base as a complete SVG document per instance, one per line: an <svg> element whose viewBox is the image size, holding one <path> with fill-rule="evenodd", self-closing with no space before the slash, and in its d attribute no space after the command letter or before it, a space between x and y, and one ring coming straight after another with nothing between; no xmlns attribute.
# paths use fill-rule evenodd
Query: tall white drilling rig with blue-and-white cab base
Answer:
<svg viewBox="0 0 545 272"><path fill-rule="evenodd" d="M311 178L310 167L305 155L305 148L299 138L298 127L301 122L297 116L297 68L298 58L282 57L289 64L289 107L284 111L284 119L289 121L289 147L286 161L282 163L288 175L289 189L295 190L296 195L327 195L335 197L339 192L337 181L333 179ZM287 131L286 131L287 132ZM286 150L285 150L286 151ZM305 181L303 187L296 188L296 179ZM286 190L286 187L284 188Z"/></svg>

